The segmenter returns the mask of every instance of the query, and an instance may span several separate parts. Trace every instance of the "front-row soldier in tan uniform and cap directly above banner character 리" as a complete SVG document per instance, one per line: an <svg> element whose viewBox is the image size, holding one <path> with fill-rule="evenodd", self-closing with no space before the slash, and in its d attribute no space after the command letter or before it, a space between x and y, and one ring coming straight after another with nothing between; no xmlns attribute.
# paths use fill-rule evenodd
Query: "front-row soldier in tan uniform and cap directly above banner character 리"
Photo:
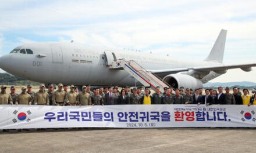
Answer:
<svg viewBox="0 0 256 153"><path fill-rule="evenodd" d="M52 105L65 106L66 92L63 91L62 83L59 83L58 90L54 92L52 96Z"/></svg>

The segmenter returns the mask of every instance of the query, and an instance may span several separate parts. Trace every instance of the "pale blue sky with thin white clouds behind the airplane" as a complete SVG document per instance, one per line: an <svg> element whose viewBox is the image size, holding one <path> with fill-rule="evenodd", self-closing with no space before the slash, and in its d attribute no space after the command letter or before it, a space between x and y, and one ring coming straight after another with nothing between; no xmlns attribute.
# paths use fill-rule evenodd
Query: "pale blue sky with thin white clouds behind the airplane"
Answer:
<svg viewBox="0 0 256 153"><path fill-rule="evenodd" d="M255 6L234 0L0 0L0 56L24 43L74 40L199 61L223 28L223 63L256 63ZM211 82L256 82L255 76L256 68L228 70Z"/></svg>

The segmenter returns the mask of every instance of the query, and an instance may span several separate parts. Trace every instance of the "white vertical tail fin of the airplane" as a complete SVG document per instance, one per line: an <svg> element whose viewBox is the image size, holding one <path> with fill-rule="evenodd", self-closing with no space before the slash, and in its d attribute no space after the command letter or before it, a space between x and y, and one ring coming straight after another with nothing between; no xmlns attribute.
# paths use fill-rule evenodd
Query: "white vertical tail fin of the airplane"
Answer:
<svg viewBox="0 0 256 153"><path fill-rule="evenodd" d="M219 36L214 43L214 47L212 48L211 52L209 53L205 61L218 61L219 63L222 63L224 49L225 49L226 35L227 35L226 30L222 29L221 32L219 32Z"/></svg>

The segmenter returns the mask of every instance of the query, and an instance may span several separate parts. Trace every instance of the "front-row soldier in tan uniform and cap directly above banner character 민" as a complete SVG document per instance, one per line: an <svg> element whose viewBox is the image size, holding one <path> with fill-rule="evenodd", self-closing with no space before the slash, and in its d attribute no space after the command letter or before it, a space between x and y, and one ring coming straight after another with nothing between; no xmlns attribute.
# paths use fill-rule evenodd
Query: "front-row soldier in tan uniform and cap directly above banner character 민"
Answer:
<svg viewBox="0 0 256 153"><path fill-rule="evenodd" d="M91 96L86 92L86 86L83 86L82 92L76 97L77 104L81 105L91 105Z"/></svg>

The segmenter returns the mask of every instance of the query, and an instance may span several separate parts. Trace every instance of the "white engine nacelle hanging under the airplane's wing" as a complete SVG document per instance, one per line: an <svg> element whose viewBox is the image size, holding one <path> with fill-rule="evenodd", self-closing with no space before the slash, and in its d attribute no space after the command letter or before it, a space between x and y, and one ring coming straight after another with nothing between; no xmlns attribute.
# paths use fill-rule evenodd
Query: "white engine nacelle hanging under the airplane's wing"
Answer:
<svg viewBox="0 0 256 153"><path fill-rule="evenodd" d="M186 74L170 74L163 78L163 81L171 85L173 88L186 88L197 89L202 88L202 82Z"/></svg>

